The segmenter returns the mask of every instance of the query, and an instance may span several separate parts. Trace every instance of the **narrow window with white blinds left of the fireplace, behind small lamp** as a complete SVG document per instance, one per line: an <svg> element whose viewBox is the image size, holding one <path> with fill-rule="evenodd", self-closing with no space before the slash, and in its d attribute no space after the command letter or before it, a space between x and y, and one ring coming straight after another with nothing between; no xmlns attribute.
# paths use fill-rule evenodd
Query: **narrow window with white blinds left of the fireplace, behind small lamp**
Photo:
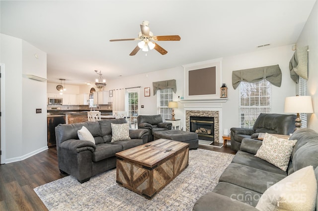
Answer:
<svg viewBox="0 0 318 211"><path fill-rule="evenodd" d="M171 119L172 108L168 108L168 103L173 101L172 89L159 89L158 95L158 114L161 114L162 120Z"/></svg>

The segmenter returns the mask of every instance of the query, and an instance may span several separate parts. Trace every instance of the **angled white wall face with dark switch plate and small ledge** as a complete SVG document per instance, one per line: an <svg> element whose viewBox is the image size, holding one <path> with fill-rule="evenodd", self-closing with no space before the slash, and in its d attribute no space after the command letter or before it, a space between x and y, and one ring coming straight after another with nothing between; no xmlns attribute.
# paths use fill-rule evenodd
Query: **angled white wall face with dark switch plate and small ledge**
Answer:
<svg viewBox="0 0 318 211"><path fill-rule="evenodd" d="M38 55L38 58L35 57ZM32 80L26 74L46 78L46 53L22 41L22 153L27 156L47 148L46 82ZM42 109L36 114L37 108Z"/></svg>

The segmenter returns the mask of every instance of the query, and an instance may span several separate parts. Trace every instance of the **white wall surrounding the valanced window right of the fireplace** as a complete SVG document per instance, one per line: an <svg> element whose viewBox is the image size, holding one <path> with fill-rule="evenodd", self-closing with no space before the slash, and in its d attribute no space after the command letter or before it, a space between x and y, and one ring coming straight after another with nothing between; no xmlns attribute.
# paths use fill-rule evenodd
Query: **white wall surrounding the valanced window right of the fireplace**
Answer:
<svg viewBox="0 0 318 211"><path fill-rule="evenodd" d="M229 100L223 107L223 128L239 126L239 88L232 86L232 71L243 70L271 65L279 65L282 71L281 87L272 85L272 113L284 114L286 96L294 96L295 83L290 78L288 70L289 61L294 51L292 46L257 51L254 53L241 54L223 58L223 81L228 86Z"/></svg>

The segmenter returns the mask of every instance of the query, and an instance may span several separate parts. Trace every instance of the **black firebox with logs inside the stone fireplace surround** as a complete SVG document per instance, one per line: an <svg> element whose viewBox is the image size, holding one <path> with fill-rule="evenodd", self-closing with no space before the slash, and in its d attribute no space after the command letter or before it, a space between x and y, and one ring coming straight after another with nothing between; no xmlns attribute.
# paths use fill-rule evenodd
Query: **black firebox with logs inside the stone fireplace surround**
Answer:
<svg viewBox="0 0 318 211"><path fill-rule="evenodd" d="M199 140L214 141L214 117L190 116L190 132L197 133Z"/></svg>

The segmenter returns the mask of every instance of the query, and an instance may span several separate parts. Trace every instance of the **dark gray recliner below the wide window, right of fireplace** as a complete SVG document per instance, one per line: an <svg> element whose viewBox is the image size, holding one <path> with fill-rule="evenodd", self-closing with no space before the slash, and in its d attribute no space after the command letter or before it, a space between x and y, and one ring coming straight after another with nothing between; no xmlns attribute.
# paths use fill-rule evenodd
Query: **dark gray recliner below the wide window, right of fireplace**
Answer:
<svg viewBox="0 0 318 211"><path fill-rule="evenodd" d="M244 138L254 139L259 133L289 135L294 132L296 115L261 113L253 128L231 128L231 149L238 151Z"/></svg>

